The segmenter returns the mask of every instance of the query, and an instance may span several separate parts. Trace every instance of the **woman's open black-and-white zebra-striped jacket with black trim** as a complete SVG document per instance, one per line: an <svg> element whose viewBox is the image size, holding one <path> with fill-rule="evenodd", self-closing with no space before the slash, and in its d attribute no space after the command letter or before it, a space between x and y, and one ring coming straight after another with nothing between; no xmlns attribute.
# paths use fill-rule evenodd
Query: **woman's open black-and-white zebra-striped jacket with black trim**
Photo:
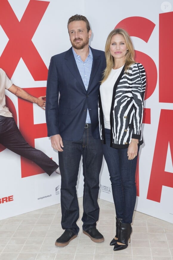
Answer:
<svg viewBox="0 0 173 260"><path fill-rule="evenodd" d="M110 110L110 146L127 148L131 138L143 143L141 125L143 119L143 101L146 87L146 75L143 65L134 63L125 71L124 67L115 82ZM99 130L102 143L105 143L104 115L99 93Z"/></svg>

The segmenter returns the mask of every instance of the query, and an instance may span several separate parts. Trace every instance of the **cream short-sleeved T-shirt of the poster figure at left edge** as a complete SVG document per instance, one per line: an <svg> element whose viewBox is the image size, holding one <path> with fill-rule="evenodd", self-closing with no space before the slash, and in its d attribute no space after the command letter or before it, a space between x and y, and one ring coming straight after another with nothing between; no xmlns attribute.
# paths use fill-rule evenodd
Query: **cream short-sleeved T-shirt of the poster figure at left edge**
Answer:
<svg viewBox="0 0 173 260"><path fill-rule="evenodd" d="M7 77L5 72L0 68L0 116L13 117L5 103L5 89L9 89L13 82Z"/></svg>

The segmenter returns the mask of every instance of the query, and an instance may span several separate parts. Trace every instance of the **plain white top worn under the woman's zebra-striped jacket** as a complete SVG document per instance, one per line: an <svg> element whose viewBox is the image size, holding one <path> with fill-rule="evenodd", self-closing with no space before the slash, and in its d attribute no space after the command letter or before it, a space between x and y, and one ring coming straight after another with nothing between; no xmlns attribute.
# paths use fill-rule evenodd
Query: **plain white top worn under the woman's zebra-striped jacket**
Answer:
<svg viewBox="0 0 173 260"><path fill-rule="evenodd" d="M115 82L117 81L122 71L123 66L121 66L116 70L112 69L108 78L100 85L101 104L102 104L103 114L104 114L104 127L107 129L111 129L110 110L111 110L111 103L112 103L113 88Z"/></svg>

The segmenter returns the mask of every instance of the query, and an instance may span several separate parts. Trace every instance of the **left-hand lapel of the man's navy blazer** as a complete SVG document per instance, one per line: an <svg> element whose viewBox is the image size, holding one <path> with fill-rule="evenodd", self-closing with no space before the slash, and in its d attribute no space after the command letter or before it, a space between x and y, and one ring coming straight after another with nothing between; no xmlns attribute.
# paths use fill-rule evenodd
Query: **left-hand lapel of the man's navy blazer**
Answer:
<svg viewBox="0 0 173 260"><path fill-rule="evenodd" d="M72 47L67 51L65 59L66 59L65 63L66 63L67 68L69 69L69 71L71 71L73 76L78 80L78 82L81 84L81 86L84 87L84 89L85 89L84 83L81 78L81 74L79 73L78 67L75 62L75 57L72 52Z"/></svg>

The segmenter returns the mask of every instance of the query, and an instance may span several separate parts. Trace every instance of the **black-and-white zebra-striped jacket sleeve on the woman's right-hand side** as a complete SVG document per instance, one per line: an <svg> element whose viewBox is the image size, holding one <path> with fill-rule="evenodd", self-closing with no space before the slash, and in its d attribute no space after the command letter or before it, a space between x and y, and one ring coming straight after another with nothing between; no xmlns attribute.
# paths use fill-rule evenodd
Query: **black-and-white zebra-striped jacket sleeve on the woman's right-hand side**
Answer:
<svg viewBox="0 0 173 260"><path fill-rule="evenodd" d="M132 68L132 96L134 107L132 138L140 140L143 120L143 101L146 88L146 74L142 64L135 63Z"/></svg>

